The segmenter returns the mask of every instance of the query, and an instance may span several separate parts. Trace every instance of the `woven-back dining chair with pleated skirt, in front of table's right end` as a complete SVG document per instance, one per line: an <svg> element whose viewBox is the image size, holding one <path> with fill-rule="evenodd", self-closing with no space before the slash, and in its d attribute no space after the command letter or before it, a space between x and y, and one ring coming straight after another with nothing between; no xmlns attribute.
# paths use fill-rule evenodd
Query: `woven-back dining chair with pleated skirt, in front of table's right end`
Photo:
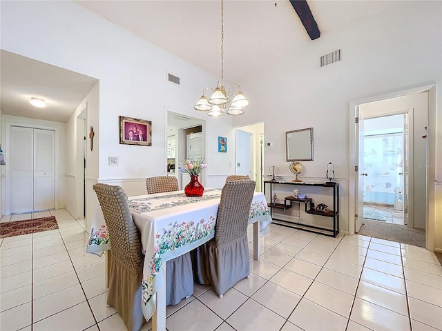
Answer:
<svg viewBox="0 0 442 331"><path fill-rule="evenodd" d="M250 276L247 223L255 181L228 181L221 192L215 237L193 252L193 274L211 284L220 299L238 281Z"/></svg>

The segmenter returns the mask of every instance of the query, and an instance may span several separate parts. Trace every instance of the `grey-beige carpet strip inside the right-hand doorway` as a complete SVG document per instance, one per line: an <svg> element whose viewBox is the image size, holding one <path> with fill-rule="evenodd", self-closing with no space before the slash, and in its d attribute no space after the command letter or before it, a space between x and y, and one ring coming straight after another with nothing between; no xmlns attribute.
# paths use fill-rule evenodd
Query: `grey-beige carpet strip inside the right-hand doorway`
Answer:
<svg viewBox="0 0 442 331"><path fill-rule="evenodd" d="M408 228L407 225L364 219L358 234L425 247L425 230Z"/></svg>

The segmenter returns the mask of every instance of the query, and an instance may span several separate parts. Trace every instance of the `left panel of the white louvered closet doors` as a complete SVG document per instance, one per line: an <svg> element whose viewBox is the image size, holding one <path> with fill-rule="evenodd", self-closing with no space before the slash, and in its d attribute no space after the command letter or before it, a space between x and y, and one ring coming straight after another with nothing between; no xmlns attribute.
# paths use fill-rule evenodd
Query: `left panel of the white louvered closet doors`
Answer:
<svg viewBox="0 0 442 331"><path fill-rule="evenodd" d="M11 128L11 212L34 208L34 133L30 128Z"/></svg>

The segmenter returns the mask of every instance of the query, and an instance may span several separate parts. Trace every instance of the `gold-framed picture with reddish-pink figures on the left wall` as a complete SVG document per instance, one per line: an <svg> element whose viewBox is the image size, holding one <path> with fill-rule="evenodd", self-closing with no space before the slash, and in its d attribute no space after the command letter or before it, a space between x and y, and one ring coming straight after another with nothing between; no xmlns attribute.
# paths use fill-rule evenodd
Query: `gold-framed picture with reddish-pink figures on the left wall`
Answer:
<svg viewBox="0 0 442 331"><path fill-rule="evenodd" d="M152 146L152 122L120 116L119 143Z"/></svg>

